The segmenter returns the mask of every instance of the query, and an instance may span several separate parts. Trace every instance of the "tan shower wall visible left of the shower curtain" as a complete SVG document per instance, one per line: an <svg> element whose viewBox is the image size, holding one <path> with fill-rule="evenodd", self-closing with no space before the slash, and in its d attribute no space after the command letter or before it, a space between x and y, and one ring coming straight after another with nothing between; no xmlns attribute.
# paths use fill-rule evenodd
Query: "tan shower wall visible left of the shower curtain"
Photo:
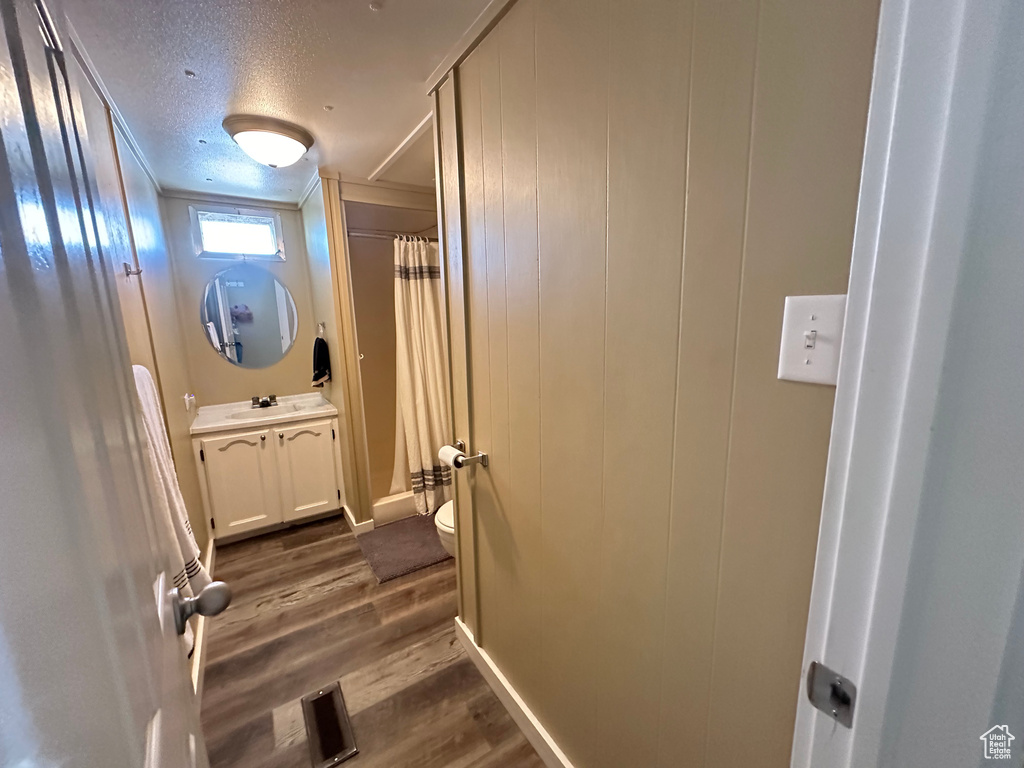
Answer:
<svg viewBox="0 0 1024 768"><path fill-rule="evenodd" d="M348 257L355 332L362 355L359 375L370 453L370 492L376 500L390 493L394 472L394 245L386 240L349 238Z"/></svg>

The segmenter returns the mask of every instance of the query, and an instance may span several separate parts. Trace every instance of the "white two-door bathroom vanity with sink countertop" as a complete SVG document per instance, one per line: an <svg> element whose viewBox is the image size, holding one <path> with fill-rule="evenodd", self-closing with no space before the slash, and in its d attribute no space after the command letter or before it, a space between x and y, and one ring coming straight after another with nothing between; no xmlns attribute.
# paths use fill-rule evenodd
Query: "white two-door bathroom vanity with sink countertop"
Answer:
<svg viewBox="0 0 1024 768"><path fill-rule="evenodd" d="M250 534L344 504L338 409L318 392L204 406L193 451L210 535Z"/></svg>

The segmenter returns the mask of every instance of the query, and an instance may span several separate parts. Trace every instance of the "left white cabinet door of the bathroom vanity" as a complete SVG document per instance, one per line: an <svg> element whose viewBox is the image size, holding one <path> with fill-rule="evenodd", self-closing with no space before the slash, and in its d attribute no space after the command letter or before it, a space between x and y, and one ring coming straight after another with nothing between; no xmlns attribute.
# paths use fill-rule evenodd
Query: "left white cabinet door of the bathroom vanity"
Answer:
<svg viewBox="0 0 1024 768"><path fill-rule="evenodd" d="M217 537L282 521L281 493L267 430L203 440Z"/></svg>

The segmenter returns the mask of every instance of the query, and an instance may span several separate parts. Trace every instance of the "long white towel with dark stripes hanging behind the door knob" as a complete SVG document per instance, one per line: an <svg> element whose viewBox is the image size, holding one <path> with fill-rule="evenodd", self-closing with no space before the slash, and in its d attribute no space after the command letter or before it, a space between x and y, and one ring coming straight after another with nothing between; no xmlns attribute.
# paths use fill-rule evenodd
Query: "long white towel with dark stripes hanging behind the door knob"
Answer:
<svg viewBox="0 0 1024 768"><path fill-rule="evenodd" d="M184 499L181 498L157 384L143 366L132 366L132 373L135 375L135 389L147 443L144 454L153 488L154 527L164 549L170 554L173 585L190 597L210 583L210 574L200 562L199 545L188 522ZM185 630L185 646L189 656L194 644L191 627L188 627Z"/></svg>

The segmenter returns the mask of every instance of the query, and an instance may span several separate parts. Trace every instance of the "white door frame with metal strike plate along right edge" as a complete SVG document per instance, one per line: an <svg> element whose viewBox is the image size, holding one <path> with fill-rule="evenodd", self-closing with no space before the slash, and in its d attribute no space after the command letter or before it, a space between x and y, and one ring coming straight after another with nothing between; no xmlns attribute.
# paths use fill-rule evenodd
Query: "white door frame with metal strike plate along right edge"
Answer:
<svg viewBox="0 0 1024 768"><path fill-rule="evenodd" d="M795 767L1024 762L1022 32L882 4Z"/></svg>

